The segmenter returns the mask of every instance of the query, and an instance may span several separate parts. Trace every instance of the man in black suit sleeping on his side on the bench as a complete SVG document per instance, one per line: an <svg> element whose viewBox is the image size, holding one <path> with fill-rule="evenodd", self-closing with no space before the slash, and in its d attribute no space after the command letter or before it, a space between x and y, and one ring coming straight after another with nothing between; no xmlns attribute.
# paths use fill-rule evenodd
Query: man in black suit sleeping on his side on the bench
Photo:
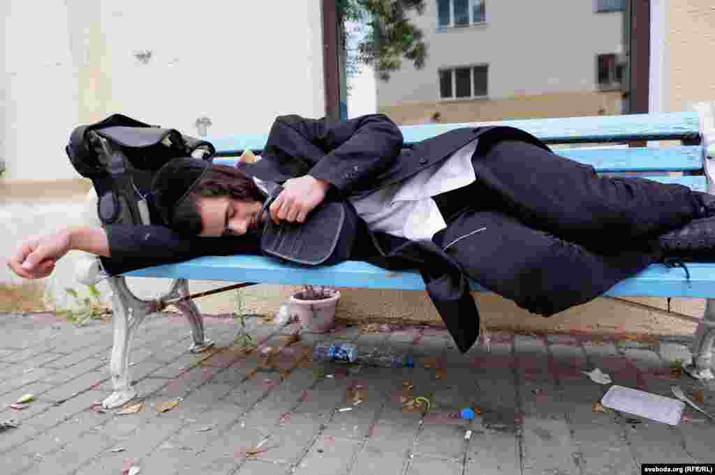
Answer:
<svg viewBox="0 0 715 475"><path fill-rule="evenodd" d="M598 176L506 126L455 129L403 147L400 129L382 114L340 123L280 116L255 163L174 159L152 189L161 225L35 236L16 249L10 268L39 279L71 249L103 256L109 274L258 254L267 219L303 223L323 201L347 200L367 225L351 259L420 269L466 351L479 329L468 279L551 316L666 258L715 257L715 197Z"/></svg>

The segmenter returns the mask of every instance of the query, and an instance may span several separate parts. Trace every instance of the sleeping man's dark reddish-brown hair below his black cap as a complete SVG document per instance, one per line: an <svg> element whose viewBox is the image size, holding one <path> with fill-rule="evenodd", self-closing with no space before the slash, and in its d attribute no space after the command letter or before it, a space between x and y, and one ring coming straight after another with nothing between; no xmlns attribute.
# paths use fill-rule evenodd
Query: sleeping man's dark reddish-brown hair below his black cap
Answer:
<svg viewBox="0 0 715 475"><path fill-rule="evenodd" d="M177 204L173 227L188 234L201 234L202 222L198 200L202 197L230 196L240 201L265 201L267 195L235 166L211 164L197 186Z"/></svg>

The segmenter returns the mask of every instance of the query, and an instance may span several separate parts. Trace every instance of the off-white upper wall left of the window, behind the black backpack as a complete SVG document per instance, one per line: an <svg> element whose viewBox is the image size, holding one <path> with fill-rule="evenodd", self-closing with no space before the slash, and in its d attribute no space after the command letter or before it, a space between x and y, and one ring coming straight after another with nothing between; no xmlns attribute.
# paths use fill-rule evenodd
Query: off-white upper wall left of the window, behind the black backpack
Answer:
<svg viewBox="0 0 715 475"><path fill-rule="evenodd" d="M194 135L199 116L220 135L325 115L319 0L3 0L0 14L4 178L76 177L69 132L114 112Z"/></svg>

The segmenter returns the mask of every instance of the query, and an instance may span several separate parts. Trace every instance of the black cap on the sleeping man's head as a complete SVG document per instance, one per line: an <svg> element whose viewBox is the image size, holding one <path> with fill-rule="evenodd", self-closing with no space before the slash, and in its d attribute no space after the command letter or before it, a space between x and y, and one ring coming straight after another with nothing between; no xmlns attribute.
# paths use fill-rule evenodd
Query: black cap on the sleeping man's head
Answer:
<svg viewBox="0 0 715 475"><path fill-rule="evenodd" d="M152 180L154 206L164 224L171 227L179 202L199 184L211 162L202 159L173 159L157 171Z"/></svg>

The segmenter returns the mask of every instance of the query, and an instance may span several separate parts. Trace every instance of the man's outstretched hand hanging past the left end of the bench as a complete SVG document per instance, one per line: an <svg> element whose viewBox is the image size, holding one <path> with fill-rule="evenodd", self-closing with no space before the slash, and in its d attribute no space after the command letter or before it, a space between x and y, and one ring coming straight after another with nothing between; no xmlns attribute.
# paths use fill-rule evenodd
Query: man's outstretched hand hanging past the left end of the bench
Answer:
<svg viewBox="0 0 715 475"><path fill-rule="evenodd" d="M27 239L8 260L7 265L24 279L42 279L54 270L54 264L70 248L68 230Z"/></svg>

